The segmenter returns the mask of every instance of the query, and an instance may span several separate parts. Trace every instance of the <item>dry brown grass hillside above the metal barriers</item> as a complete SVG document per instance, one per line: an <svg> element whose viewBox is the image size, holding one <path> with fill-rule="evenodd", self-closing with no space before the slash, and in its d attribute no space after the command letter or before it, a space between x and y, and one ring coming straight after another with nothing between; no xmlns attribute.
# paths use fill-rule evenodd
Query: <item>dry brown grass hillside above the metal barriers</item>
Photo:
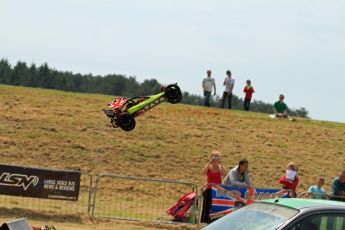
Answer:
<svg viewBox="0 0 345 230"><path fill-rule="evenodd" d="M188 180L202 185L210 151L226 168L250 161L257 187L279 187L289 161L298 190L345 165L345 125L265 114L163 104L137 118L132 132L113 129L101 111L111 96L0 85L2 163Z"/></svg>

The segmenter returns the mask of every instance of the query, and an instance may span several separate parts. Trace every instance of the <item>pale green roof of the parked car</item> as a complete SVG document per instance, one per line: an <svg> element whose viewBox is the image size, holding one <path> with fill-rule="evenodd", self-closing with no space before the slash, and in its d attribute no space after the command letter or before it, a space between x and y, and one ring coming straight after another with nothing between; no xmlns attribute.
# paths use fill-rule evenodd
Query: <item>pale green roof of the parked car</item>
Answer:
<svg viewBox="0 0 345 230"><path fill-rule="evenodd" d="M279 198L261 200L259 203L270 203L285 206L294 209L304 209L311 207L339 207L345 209L345 202L330 201L330 200L318 200L318 199L300 199L300 198Z"/></svg>

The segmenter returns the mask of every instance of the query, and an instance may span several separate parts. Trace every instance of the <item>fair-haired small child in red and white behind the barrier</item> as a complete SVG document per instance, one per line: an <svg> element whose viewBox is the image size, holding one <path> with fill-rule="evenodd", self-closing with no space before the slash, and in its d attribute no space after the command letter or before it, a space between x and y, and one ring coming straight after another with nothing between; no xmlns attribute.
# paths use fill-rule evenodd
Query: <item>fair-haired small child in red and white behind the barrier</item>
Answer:
<svg viewBox="0 0 345 230"><path fill-rule="evenodd" d="M297 172L298 172L298 166L294 162L290 162L286 166L286 172L285 175L283 175L279 183L283 185L283 189L288 189L289 190L289 197L290 198L295 198L297 197L296 194L296 188L299 183L299 179L297 177Z"/></svg>

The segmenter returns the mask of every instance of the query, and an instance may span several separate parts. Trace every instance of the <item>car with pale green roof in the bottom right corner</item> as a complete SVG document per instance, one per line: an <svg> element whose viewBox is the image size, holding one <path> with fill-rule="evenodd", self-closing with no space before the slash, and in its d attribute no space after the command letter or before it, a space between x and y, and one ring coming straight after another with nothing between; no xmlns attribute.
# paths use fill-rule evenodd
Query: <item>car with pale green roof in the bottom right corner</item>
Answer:
<svg viewBox="0 0 345 230"><path fill-rule="evenodd" d="M257 201L211 223L205 230L345 230L345 203L280 198Z"/></svg>

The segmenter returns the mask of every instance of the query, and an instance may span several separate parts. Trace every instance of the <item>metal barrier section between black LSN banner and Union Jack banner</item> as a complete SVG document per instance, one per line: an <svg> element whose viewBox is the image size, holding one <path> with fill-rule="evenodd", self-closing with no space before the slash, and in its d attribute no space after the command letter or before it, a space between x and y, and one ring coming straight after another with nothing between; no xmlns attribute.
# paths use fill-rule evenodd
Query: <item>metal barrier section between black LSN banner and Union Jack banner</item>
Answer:
<svg viewBox="0 0 345 230"><path fill-rule="evenodd" d="M101 174L95 182L91 215L170 222L166 211L189 192L195 192L198 197L197 187L189 182ZM190 210L188 222L197 223L197 198Z"/></svg>

